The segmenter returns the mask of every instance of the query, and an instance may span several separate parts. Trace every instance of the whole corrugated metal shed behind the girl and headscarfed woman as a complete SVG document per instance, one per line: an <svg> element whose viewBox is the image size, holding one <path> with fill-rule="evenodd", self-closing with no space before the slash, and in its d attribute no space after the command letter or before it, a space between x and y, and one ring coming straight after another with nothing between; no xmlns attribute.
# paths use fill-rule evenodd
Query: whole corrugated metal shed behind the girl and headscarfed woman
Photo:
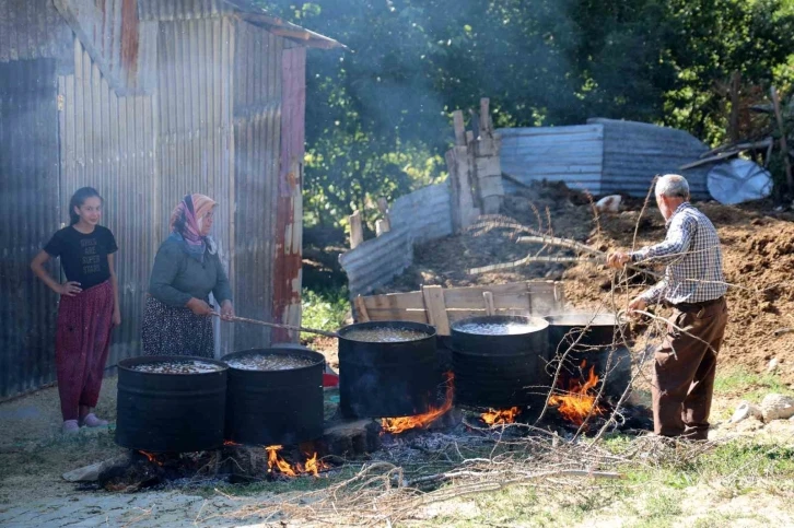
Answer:
<svg viewBox="0 0 794 528"><path fill-rule="evenodd" d="M0 398L55 377L57 300L28 265L83 186L104 196L120 247L109 365L139 353L154 254L187 192L219 203L237 312L299 324L303 46L336 42L297 26L277 35L287 26L242 0L0 0L2 27L28 19L51 27L19 30L24 54L0 34ZM270 338L224 325L219 347Z"/></svg>

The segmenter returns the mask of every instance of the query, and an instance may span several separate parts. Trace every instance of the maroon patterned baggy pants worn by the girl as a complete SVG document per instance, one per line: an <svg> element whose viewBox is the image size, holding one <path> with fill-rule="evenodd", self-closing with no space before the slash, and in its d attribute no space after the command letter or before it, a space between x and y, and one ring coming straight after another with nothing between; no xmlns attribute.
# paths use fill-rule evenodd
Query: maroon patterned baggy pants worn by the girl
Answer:
<svg viewBox="0 0 794 528"><path fill-rule="evenodd" d="M55 363L65 421L78 420L80 406L96 407L112 331L110 281L60 297Z"/></svg>

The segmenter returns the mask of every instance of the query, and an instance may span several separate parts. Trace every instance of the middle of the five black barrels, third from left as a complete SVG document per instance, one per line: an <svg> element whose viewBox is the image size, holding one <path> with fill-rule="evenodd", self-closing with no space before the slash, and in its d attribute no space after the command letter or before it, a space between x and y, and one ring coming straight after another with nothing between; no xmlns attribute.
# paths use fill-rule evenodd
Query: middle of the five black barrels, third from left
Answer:
<svg viewBox="0 0 794 528"><path fill-rule="evenodd" d="M346 338L352 330L397 328L427 337L401 342ZM371 321L339 330L339 407L348 418L409 416L439 404L443 378L435 355L435 328L421 322Z"/></svg>

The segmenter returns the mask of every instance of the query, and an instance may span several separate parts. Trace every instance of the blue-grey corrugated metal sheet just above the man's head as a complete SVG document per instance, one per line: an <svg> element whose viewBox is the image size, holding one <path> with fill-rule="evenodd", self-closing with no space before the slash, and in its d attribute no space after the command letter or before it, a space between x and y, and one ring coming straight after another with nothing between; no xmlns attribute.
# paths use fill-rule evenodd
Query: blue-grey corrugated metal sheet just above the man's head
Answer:
<svg viewBox="0 0 794 528"><path fill-rule="evenodd" d="M678 169L709 148L684 130L646 122L589 119L604 127L604 174L602 195L624 192L644 197L657 174L682 174L694 198L710 198L705 176L709 166Z"/></svg>

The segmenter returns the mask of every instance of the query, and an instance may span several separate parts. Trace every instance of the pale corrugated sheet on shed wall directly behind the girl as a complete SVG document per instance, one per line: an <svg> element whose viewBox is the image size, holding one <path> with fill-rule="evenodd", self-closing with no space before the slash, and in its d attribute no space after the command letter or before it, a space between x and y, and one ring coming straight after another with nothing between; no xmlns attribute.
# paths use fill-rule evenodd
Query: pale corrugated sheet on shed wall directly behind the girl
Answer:
<svg viewBox="0 0 794 528"><path fill-rule="evenodd" d="M122 325L108 365L139 353L143 294L157 242L154 99L119 97L74 38L74 74L59 78L61 201L95 187L105 199L103 224L116 236ZM62 222L68 215L62 214Z"/></svg>

